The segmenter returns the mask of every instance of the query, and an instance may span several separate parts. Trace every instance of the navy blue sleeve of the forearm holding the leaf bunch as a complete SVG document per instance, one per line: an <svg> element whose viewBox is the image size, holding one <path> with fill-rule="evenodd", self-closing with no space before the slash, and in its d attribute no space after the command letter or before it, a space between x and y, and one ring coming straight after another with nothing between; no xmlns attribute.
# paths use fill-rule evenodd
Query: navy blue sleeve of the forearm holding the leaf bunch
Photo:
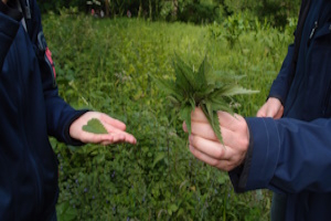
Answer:
<svg viewBox="0 0 331 221"><path fill-rule="evenodd" d="M239 191L270 189L297 193L331 191L331 119L307 123L297 119L247 118L252 158L247 177L231 172ZM244 173L244 172L243 172ZM242 179L242 180L241 180ZM238 187L237 187L238 188Z"/></svg>

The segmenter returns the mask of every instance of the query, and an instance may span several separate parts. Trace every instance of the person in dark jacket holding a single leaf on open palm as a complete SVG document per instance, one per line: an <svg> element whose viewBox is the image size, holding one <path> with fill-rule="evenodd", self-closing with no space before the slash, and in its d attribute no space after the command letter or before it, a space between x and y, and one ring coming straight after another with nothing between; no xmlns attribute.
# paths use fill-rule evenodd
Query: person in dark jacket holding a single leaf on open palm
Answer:
<svg viewBox="0 0 331 221"><path fill-rule="evenodd" d="M24 15L24 17L23 17ZM0 220L56 220L54 136L70 145L136 144L126 125L60 96L35 0L0 0ZM84 131L99 119L106 135Z"/></svg>

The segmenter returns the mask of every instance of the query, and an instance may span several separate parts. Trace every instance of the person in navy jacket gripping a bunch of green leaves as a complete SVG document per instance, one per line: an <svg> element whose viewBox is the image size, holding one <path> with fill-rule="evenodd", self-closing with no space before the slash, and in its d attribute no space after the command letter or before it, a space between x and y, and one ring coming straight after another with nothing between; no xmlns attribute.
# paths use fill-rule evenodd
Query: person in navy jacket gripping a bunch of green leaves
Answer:
<svg viewBox="0 0 331 221"><path fill-rule="evenodd" d="M191 152L228 171L237 192L273 190L273 221L331 218L330 61L331 1L303 0L295 43L257 117L218 112L223 146L203 112L192 113Z"/></svg>

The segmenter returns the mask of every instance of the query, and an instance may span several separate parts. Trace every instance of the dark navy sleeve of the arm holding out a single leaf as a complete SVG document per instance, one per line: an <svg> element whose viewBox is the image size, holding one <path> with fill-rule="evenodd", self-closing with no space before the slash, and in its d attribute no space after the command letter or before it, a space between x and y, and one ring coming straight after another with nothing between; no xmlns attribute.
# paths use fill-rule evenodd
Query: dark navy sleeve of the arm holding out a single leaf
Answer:
<svg viewBox="0 0 331 221"><path fill-rule="evenodd" d="M34 45L40 48L43 44L43 46L46 48L46 42L42 34L43 32L40 11L35 1L33 1L33 3L34 25L30 35ZM70 145L83 145L83 143L71 138L70 126L75 119L77 119L87 110L75 110L62 97L58 96L58 88L55 83L55 73L53 71L53 66L50 65L50 61L47 60L45 53L39 54L39 56L44 101L46 105L47 133L49 135L57 138L60 141L64 141Z"/></svg>

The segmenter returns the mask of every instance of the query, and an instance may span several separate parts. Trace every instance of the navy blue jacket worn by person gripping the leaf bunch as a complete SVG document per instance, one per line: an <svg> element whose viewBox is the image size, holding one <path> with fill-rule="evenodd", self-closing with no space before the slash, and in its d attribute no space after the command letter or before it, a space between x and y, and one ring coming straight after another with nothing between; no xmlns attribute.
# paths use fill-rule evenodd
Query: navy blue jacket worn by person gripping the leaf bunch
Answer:
<svg viewBox="0 0 331 221"><path fill-rule="evenodd" d="M297 36L296 36L297 38ZM331 219L331 1L311 0L292 74L290 45L269 96L281 119L246 118L245 164L229 172L236 191L270 189L287 196L286 220Z"/></svg>

